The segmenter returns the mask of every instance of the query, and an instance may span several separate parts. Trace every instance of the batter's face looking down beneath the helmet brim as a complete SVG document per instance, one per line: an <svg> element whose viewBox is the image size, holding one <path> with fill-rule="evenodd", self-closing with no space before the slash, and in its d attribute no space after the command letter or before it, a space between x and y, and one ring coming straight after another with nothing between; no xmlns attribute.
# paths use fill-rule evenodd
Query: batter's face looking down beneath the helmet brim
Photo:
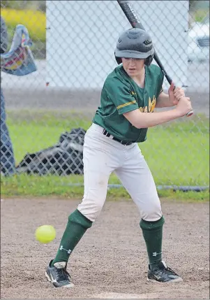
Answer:
<svg viewBox="0 0 210 300"><path fill-rule="evenodd" d="M144 68L144 59L122 57L122 63L124 70L129 76L140 75L142 68Z"/></svg>

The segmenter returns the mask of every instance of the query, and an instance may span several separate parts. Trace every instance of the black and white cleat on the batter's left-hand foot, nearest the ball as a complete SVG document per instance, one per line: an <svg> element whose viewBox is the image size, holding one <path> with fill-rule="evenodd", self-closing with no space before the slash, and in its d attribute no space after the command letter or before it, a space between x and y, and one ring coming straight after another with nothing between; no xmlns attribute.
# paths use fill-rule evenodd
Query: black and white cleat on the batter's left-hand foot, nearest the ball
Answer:
<svg viewBox="0 0 210 300"><path fill-rule="evenodd" d="M54 287L73 287L74 284L70 282L70 275L66 271L66 262L56 262L51 266L52 260L47 266L45 277Z"/></svg>

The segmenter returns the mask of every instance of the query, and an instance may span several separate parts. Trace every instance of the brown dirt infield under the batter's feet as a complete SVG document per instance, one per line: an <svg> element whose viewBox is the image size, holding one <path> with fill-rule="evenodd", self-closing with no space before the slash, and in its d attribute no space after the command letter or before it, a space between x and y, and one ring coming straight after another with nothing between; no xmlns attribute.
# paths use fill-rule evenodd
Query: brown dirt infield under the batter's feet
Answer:
<svg viewBox="0 0 210 300"><path fill-rule="evenodd" d="M71 255L68 271L75 287L52 287L45 267L79 202L1 202L1 299L209 299L209 203L162 201L163 258L183 283L147 283L147 252L135 204L107 201ZM48 245L34 238L41 224L57 229L57 238Z"/></svg>

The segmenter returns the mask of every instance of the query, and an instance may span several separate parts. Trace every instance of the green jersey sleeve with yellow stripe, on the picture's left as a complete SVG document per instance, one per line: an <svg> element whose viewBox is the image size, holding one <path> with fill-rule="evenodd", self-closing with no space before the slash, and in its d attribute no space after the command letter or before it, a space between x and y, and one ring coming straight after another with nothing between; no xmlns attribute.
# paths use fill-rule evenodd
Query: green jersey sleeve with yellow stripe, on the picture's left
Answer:
<svg viewBox="0 0 210 300"><path fill-rule="evenodd" d="M130 87L121 83L120 80L112 79L105 83L107 97L116 106L119 115L138 109L135 93L130 91Z"/></svg>

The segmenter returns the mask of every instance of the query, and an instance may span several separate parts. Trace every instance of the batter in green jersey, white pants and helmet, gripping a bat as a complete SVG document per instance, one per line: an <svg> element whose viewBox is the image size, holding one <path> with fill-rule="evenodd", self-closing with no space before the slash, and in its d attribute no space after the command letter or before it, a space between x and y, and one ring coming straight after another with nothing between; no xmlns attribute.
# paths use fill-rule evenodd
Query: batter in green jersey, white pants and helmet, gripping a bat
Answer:
<svg viewBox="0 0 210 300"><path fill-rule="evenodd" d="M182 278L162 260L164 218L151 171L138 146L147 138L148 127L183 117L192 110L180 87L163 92L163 73L151 64L151 37L142 29L124 31L117 41L119 66L103 85L100 107L84 137L84 197L68 217L56 257L45 276L54 287L71 287L66 270L69 256L103 208L107 184L116 173L140 211L140 227L147 245L147 280L180 282ZM154 108L174 108L153 112Z"/></svg>

